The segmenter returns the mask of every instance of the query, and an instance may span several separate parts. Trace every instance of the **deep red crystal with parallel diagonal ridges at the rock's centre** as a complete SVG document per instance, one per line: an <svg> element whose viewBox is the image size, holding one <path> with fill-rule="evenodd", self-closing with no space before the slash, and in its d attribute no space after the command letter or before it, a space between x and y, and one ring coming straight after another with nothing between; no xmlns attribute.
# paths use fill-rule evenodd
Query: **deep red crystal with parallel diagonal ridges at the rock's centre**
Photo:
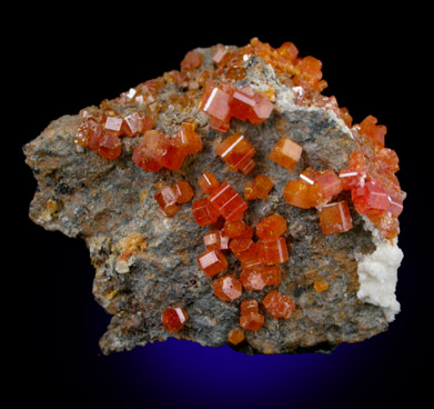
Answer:
<svg viewBox="0 0 434 409"><path fill-rule="evenodd" d="M224 219L229 221L241 220L248 205L228 182L223 182L209 197L210 202Z"/></svg>

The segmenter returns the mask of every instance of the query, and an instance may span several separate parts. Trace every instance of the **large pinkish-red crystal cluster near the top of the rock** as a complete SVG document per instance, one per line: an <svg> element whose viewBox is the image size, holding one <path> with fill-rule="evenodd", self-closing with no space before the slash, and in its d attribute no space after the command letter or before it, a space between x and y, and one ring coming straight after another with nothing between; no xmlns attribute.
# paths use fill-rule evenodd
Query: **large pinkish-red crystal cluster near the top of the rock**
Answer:
<svg viewBox="0 0 434 409"><path fill-rule="evenodd" d="M264 122L273 104L265 93L254 92L250 86L238 89L228 82L221 87L209 87L199 108L210 116L212 129L226 132L232 117L249 120L252 124Z"/></svg>

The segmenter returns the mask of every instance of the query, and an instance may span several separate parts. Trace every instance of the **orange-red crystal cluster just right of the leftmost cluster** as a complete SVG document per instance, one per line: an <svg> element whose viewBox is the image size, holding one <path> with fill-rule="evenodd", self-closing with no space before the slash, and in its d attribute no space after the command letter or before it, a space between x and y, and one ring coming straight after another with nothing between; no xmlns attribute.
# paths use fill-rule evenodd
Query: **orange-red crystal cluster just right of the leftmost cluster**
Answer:
<svg viewBox="0 0 434 409"><path fill-rule="evenodd" d="M181 130L169 139L159 130L149 130L134 148L133 161L145 171L158 172L161 168L178 170L185 156L202 150L202 140L195 132L194 122L183 122Z"/></svg>

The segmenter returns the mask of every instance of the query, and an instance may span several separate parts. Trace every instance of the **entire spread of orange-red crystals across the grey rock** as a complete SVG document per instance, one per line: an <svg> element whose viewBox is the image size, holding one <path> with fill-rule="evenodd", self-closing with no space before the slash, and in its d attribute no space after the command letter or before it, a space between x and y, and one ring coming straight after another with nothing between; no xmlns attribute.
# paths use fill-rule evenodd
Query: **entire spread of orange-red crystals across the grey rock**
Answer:
<svg viewBox="0 0 434 409"><path fill-rule="evenodd" d="M305 158L303 139L291 133L291 126L277 132L279 137L263 152L261 139L254 133L256 130L261 133L264 122L276 113L277 93L272 86L266 89L249 80L245 62L254 56L272 67L276 81L292 90L296 104L325 107L345 123L359 147L350 153L345 168L311 164ZM180 91L161 98L170 87ZM228 333L232 345L244 342L251 331L260 331L268 320L291 320L299 308L282 286L292 240L287 220L271 205L272 200L313 209L310 213L323 235L349 232L356 213L370 219L385 239L392 240L398 233L397 218L405 193L395 176L398 158L384 146L386 128L372 116L353 126L346 108L339 107L334 97L321 94L326 87L320 60L299 57L292 42L273 48L254 38L242 48L215 46L208 58L201 50L190 51L180 71L165 72L115 100L80 112L75 136L79 150L89 148L115 160L122 149L130 149L131 160L138 167L153 174L158 172L160 181L152 194L160 216L189 222L178 219L184 213L178 215L180 205L185 203L191 221L203 230L200 240L203 238L204 249L194 255L198 271L209 278L213 297L223 303L234 303L240 311L236 328ZM173 107L189 114L180 116L183 119L174 116L170 126L168 122L163 126L159 114L166 114ZM250 130L254 126L254 131L238 131L242 129L236 128L240 121ZM206 127L212 131L208 132ZM205 141L210 136L213 141ZM131 139L125 143L122 138ZM265 140L269 134L263 132L261 138ZM219 180L210 171L214 167L203 166L199 179L192 180L188 164L201 160L204 147L212 147L209 151L215 163L224 171L230 170L224 179L215 171ZM263 162L255 159L261 158L256 151L265 153ZM183 166L188 156L191 156L189 163ZM275 184L277 178L269 171L270 166L285 176L284 187ZM245 181L241 189L231 179L231 172ZM193 200L195 193L198 198ZM261 200L270 205L264 207L266 211L256 219L246 217ZM317 295L327 291L329 286L327 280L312 281ZM188 322L188 306L170 302L164 306L161 325L165 331L182 331L185 325L189 327Z"/></svg>

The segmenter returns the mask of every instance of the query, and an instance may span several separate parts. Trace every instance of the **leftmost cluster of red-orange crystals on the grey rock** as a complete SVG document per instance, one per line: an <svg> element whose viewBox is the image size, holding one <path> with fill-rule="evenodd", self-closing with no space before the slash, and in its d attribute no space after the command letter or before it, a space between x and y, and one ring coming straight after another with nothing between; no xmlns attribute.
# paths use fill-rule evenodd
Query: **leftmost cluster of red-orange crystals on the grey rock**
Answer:
<svg viewBox="0 0 434 409"><path fill-rule="evenodd" d="M81 114L83 119L77 132L77 143L107 159L115 159L121 154L121 137L135 137L153 128L152 119L139 112L124 118L112 110L103 113L83 110Z"/></svg>

